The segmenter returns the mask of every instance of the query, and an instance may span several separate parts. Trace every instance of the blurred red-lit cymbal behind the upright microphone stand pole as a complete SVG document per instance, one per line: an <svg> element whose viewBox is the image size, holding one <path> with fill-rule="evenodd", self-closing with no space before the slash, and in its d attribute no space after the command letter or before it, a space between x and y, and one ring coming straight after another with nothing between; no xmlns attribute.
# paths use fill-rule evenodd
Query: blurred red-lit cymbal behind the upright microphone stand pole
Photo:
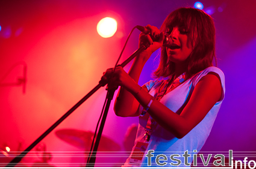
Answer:
<svg viewBox="0 0 256 169"><path fill-rule="evenodd" d="M78 129L60 129L56 131L55 134L61 140L66 141L66 143L69 143L72 146L78 147L85 151L89 151L92 144L94 132ZM101 135L101 141L98 147L99 152L118 152L119 150L119 144L115 143L110 138Z"/></svg>

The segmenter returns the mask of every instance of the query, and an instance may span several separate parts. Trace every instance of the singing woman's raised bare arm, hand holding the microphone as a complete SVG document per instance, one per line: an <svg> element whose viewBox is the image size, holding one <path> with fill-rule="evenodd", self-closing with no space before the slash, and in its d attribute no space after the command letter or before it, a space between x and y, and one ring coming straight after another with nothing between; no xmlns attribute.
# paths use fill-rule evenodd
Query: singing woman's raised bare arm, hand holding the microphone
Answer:
<svg viewBox="0 0 256 169"><path fill-rule="evenodd" d="M151 46L134 59L133 65L128 72L129 77L126 76L126 74L123 73L120 68L117 70L120 74L122 74L119 77L125 77L123 79L125 81L125 84L123 84L124 87L120 88L117 99L114 103L114 111L117 116L127 117L140 115L137 111L140 103L136 98L134 98L133 94L140 90L140 86L137 85L137 83L146 61L148 61L149 57L155 50L162 46L164 38L164 32L160 33L156 27L149 25L146 27L151 30L152 35L156 36L160 34L160 39L159 41L153 42L149 35L143 33L140 34L139 47L143 45L145 41L151 44ZM145 90L146 92L148 91L145 86L142 87L142 90Z"/></svg>

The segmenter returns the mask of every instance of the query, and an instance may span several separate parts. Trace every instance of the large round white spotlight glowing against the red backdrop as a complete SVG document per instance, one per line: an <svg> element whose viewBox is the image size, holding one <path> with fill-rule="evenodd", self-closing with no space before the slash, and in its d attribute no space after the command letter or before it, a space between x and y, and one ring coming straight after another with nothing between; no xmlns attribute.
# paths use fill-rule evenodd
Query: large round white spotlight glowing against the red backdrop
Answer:
<svg viewBox="0 0 256 169"><path fill-rule="evenodd" d="M117 22L111 17L101 19L97 25L97 32L103 38L112 37L117 30Z"/></svg>

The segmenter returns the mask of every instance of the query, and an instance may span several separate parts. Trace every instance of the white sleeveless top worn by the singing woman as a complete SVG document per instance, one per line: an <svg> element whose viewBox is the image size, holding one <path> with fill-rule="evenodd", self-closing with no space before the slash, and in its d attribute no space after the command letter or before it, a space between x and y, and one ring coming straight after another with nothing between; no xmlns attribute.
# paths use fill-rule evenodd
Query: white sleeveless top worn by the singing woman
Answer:
<svg viewBox="0 0 256 169"><path fill-rule="evenodd" d="M201 150L202 146L204 146L204 143L207 140L208 135L210 134L214 120L216 119L217 113L220 109L220 105L222 104L225 95L225 78L223 72L219 68L208 67L205 70L195 74L190 79L186 80L186 82L181 83L181 85L177 86L175 89L164 95L160 101L173 112L180 114L184 106L186 105L187 101L189 100L196 84L202 77L204 77L210 72L216 73L220 77L222 85L222 95L220 101L216 102L216 104L211 108L211 110L207 113L204 119L181 139L176 138L171 132L156 124L152 131L151 139L148 142L149 145L146 149L146 153L148 152L148 150L155 151L154 157L151 158L151 167L160 167L155 162L155 158L159 154L167 156L167 165L164 165L164 167L175 167L170 165L170 162L173 162L174 164L177 163L176 161L172 161L170 159L170 155L172 154L180 154L181 157L178 159L181 160L181 164L178 167L186 167L184 166L184 157L182 156L184 152L188 150L188 153L191 155L191 158L189 158L189 162L192 162L193 154L195 153L193 152L193 150L197 150L196 153L198 153L199 150ZM149 93L152 96L154 96L157 93L158 87L160 87L162 83L163 80L151 80L150 82L146 83L145 86L148 88ZM143 107L140 106L140 110L143 110ZM135 140L135 145L137 141L141 140L144 137L148 117L148 113L146 113L144 116L139 117L139 126ZM129 161L130 157L126 160L123 166L148 167L148 157L146 157L145 155L142 159L142 163L139 165L129 164Z"/></svg>

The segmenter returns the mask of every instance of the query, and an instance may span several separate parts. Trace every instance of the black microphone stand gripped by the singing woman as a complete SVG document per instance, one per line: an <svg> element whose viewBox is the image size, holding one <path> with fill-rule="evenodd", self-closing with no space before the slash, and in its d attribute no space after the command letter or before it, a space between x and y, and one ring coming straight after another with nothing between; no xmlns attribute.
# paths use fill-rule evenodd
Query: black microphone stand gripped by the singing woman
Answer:
<svg viewBox="0 0 256 169"><path fill-rule="evenodd" d="M126 59L122 64L120 64L120 66L125 67L126 64L128 64L130 61L132 61L133 58L135 58L140 52L143 52L143 50L147 49L149 46L150 46L150 44L146 44L146 46L142 46L139 49L137 49L128 59ZM45 132L43 132L43 134L40 135L40 137L37 138L37 140L35 140L30 146L27 147L27 149L25 149L22 153L20 153L20 155L16 156L5 167L14 167L17 163L19 163L21 161L21 159L25 155L27 155L28 152L30 152L31 149L33 149L41 140L43 140L43 138L46 137L46 135L48 135L53 129L55 129L61 122L63 122L64 119L66 119L73 111L76 110L76 108L78 108L81 104L83 104L83 102L86 101L90 96L92 96L93 93L95 93L100 87L103 87L106 84L107 84L107 82L104 82L104 80L99 81L99 84L97 86L95 86L92 90L90 90L90 92L87 93L86 96L84 96L82 99L80 99L80 101L78 101L75 105L73 105L73 107L70 108L69 111L67 111L63 116L61 116L60 119L57 120L57 122L55 122L50 128L48 128ZM101 139L105 120L107 118L107 111L109 109L111 99L113 99L115 90L111 90L111 92L108 90L108 93L107 93L108 101L106 104L104 115L102 116L101 125L100 125L99 132L98 132L98 135L97 135L97 138L95 141L95 146L93 148L93 153L92 153L93 156L90 158L90 161L89 161L89 164L92 164L93 166L95 164L96 152L98 150L99 141Z"/></svg>

